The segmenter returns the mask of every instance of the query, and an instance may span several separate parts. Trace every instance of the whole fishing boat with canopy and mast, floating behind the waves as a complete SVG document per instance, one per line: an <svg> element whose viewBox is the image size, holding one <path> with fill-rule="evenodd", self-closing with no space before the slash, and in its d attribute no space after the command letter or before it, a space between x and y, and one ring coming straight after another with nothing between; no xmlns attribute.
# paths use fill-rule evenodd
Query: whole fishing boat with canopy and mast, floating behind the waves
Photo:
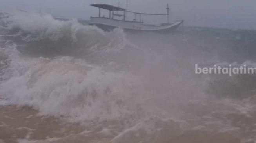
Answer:
<svg viewBox="0 0 256 143"><path fill-rule="evenodd" d="M166 14L149 14L149 13L139 13L127 11L127 9L116 7L108 4L91 4L93 7L99 9L98 17L91 16L90 25L96 25L104 31L111 31L115 28L123 28L124 30L131 31L156 31L156 32L169 32L175 30L183 23L183 20L178 20L173 23L170 23L169 20L169 5L167 4L167 13ZM101 14L101 10L105 9L109 11L109 16L106 17ZM120 14L120 12L122 14ZM119 12L119 13L117 13ZM134 19L132 21L127 20L127 13L134 14ZM145 24L142 16L167 16L167 23L161 23L160 25L150 25ZM121 18L121 19L120 19Z"/></svg>

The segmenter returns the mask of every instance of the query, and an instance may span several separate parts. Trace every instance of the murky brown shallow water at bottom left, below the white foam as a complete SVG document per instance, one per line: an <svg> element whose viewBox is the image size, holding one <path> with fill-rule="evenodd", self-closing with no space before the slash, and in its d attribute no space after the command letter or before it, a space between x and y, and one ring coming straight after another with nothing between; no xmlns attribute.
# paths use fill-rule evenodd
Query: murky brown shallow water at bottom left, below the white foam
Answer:
<svg viewBox="0 0 256 143"><path fill-rule="evenodd" d="M0 106L0 139L4 143L107 143L111 139L37 113L29 107Z"/></svg>

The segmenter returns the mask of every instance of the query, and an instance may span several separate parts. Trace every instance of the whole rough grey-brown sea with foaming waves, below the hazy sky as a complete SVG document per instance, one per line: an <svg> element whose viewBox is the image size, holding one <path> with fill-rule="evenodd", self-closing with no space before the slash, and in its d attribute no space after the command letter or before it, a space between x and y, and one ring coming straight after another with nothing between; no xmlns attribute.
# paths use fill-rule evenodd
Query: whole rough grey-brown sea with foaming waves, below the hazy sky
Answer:
<svg viewBox="0 0 256 143"><path fill-rule="evenodd" d="M254 143L256 31L104 32L0 15L0 143Z"/></svg>

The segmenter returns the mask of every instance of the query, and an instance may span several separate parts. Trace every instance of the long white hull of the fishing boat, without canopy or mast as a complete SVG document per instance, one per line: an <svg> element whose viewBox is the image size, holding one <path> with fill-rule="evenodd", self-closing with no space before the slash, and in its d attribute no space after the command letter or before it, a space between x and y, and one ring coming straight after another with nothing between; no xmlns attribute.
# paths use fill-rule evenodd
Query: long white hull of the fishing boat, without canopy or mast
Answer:
<svg viewBox="0 0 256 143"><path fill-rule="evenodd" d="M145 25L142 22L136 21L123 21L109 18L91 18L90 25L96 25L104 31L111 31L114 28L123 28L129 31L156 31L156 32L169 32L175 30L183 23L182 21L176 21L174 23L166 24L163 26Z"/></svg>

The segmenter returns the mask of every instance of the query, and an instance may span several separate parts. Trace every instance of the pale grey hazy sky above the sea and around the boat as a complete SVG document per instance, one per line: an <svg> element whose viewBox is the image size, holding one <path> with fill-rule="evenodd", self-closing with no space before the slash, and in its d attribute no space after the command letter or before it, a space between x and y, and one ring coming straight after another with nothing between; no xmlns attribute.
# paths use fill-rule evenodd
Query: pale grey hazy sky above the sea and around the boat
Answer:
<svg viewBox="0 0 256 143"><path fill-rule="evenodd" d="M14 9L45 12L57 18L89 19L98 10L89 4L104 3L125 7L126 0L0 0L0 12ZM147 13L165 13L171 7L171 19L184 19L187 26L256 29L256 0L128 0L128 9Z"/></svg>

